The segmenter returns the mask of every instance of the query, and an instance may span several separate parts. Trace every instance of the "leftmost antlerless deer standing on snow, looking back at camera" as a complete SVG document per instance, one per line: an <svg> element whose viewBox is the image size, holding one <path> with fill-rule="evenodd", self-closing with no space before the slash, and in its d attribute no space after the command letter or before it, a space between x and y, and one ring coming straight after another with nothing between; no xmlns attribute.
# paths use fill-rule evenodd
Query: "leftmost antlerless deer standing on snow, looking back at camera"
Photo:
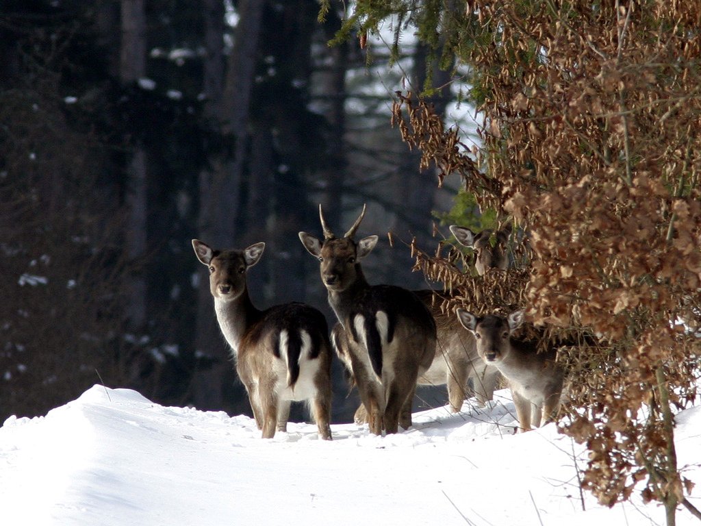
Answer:
<svg viewBox="0 0 701 526"><path fill-rule="evenodd" d="M246 271L259 261L265 243L213 250L193 239L192 246L210 270L219 328L231 346L263 438L273 438L276 427L286 431L291 401L304 400L320 437L331 440L331 346L324 315L301 303L264 311L253 306Z"/></svg>

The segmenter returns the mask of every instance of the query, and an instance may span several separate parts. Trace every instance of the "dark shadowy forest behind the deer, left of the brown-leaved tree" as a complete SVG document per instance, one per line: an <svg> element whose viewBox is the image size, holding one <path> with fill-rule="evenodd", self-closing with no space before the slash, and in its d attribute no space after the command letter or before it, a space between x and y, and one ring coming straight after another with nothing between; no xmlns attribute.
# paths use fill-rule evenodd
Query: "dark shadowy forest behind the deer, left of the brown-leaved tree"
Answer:
<svg viewBox="0 0 701 526"><path fill-rule="evenodd" d="M339 3L337 6L341 7ZM95 383L247 412L191 238L266 242L259 307L327 308L297 232L383 241L373 283L426 286L452 206L390 127L392 90L450 77L422 45L328 46L314 0L4 1L0 6L0 419ZM379 74L382 72L382 74ZM434 90L438 114L453 95ZM439 227L439 231L444 227ZM384 236L391 231L393 248ZM439 236L440 238L440 236ZM337 366L337 364L336 364ZM336 367L334 419L355 406ZM294 415L293 415L294 416Z"/></svg>

